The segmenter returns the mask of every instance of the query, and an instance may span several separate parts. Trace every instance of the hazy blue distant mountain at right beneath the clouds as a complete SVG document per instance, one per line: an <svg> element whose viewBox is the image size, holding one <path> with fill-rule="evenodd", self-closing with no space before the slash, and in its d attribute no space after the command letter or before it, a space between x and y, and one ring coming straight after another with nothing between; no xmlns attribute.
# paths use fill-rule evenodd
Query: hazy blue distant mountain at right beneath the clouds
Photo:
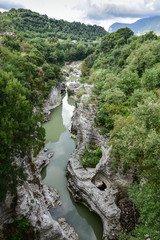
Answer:
<svg viewBox="0 0 160 240"><path fill-rule="evenodd" d="M154 31L160 34L160 16L148 17L139 19L135 23L114 23L109 27L109 32L115 32L119 28L130 28L135 34L143 34L149 31Z"/></svg>

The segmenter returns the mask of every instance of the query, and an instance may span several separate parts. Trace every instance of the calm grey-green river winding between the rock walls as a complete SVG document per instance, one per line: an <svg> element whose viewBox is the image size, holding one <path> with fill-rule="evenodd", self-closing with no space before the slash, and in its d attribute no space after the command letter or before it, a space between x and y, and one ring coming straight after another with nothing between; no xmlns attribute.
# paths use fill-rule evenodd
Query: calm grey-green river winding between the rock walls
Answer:
<svg viewBox="0 0 160 240"><path fill-rule="evenodd" d="M102 223L100 218L85 206L75 203L66 187L65 169L70 154L76 144L68 130L74 111L74 101L66 93L62 104L52 111L50 121L44 123L46 148L54 152L50 164L42 171L44 184L56 188L60 193L62 206L50 209L52 217L65 217L79 235L79 240L101 240Z"/></svg>

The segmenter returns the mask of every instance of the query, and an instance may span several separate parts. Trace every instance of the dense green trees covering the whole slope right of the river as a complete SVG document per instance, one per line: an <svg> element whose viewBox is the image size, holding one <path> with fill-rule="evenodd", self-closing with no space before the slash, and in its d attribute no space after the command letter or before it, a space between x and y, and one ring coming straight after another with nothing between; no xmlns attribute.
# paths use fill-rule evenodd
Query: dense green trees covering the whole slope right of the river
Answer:
<svg viewBox="0 0 160 240"><path fill-rule="evenodd" d="M160 238L160 38L119 29L102 38L82 64L94 83L95 122L112 145L113 169L133 172L130 199L140 211L136 228L120 239Z"/></svg>

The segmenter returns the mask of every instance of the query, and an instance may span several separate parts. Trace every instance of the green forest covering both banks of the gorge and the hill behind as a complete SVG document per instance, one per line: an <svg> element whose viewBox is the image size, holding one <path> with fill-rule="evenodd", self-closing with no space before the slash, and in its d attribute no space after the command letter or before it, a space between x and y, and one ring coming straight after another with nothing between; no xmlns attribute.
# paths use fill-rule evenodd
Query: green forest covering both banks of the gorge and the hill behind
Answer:
<svg viewBox="0 0 160 240"><path fill-rule="evenodd" d="M0 32L0 201L25 179L15 158L36 155L44 145L40 112L51 87L63 81L61 67L84 60L82 79L94 84L90 102L112 145L112 168L134 176L128 194L140 218L119 239L159 239L160 37L135 36L128 28L108 34L23 9L1 13Z"/></svg>

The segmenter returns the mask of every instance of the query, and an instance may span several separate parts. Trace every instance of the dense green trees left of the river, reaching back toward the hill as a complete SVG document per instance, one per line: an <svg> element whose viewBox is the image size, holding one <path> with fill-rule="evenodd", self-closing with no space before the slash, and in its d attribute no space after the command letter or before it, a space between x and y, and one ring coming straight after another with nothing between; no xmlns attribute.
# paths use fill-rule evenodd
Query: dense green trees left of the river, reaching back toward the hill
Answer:
<svg viewBox="0 0 160 240"><path fill-rule="evenodd" d="M33 27L29 34L24 33L27 14L31 22L37 16L27 25ZM84 59L94 52L95 45L71 44L70 39L59 41L55 33L54 37L37 37L39 18L49 19L28 10L11 10L0 17L3 27L0 34L0 201L3 201L7 191L16 193L17 185L26 177L23 158L36 155L44 145L43 117L39 112L51 87L63 81L62 65L65 61ZM8 32L13 27L12 20L17 25L16 33L13 29ZM18 166L16 158L21 159Z"/></svg>

